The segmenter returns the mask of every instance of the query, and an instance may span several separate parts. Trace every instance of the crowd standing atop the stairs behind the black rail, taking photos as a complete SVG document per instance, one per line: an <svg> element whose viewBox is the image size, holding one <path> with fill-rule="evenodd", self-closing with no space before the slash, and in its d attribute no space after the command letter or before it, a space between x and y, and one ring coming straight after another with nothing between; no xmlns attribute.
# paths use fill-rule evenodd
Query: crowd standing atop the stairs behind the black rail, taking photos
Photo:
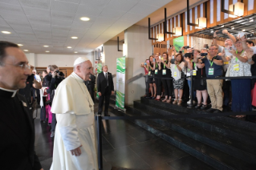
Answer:
<svg viewBox="0 0 256 170"><path fill-rule="evenodd" d="M222 30L222 34L229 37L224 47L217 44L215 31L208 49L181 47L177 53L175 47L171 47L168 52L149 56L141 63L147 71L149 87L145 97L177 105L192 103L196 108L208 108L206 111L213 113L223 111L223 107L234 112L251 111L256 107L254 79L222 79L256 75L254 42L245 36L234 37L227 30Z"/></svg>

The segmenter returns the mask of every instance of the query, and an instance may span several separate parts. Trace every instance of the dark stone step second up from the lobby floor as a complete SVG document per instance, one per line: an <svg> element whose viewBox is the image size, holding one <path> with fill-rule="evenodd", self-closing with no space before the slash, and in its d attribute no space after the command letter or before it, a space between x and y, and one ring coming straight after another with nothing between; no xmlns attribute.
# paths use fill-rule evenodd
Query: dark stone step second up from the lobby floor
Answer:
<svg viewBox="0 0 256 170"><path fill-rule="evenodd" d="M143 106L131 107L135 114L140 115L160 115L155 111L145 111ZM209 132L201 127L193 126L181 119L152 119L152 121L169 127L173 131L179 132L185 136L198 140L203 144L207 144L213 148L217 148L222 152L235 156L247 163L256 163L256 148L254 146L245 145L243 142L221 136L221 134Z"/></svg>

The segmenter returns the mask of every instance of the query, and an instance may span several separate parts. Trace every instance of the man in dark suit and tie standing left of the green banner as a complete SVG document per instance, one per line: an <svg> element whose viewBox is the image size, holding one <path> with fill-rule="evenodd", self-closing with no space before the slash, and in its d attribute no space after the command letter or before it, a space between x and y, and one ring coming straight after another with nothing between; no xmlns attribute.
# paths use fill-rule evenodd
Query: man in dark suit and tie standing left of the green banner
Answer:
<svg viewBox="0 0 256 170"><path fill-rule="evenodd" d="M110 95L114 95L114 83L112 74L108 72L108 66L105 65L102 67L102 72L98 75L97 78L97 91L100 95L100 103L99 103L99 110L98 114L101 115L101 112L103 110L103 104L105 99L105 111L104 115L108 115L108 105L109 105L109 99Z"/></svg>

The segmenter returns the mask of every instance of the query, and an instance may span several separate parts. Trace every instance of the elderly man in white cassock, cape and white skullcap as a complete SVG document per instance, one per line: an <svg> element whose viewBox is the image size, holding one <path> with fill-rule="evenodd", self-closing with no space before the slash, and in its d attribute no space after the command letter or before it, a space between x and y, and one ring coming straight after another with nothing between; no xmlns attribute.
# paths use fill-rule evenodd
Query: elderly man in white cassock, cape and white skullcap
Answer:
<svg viewBox="0 0 256 170"><path fill-rule="evenodd" d="M56 114L51 170L97 170L94 103L83 83L92 73L91 62L79 57L74 72L59 84L51 112Z"/></svg>

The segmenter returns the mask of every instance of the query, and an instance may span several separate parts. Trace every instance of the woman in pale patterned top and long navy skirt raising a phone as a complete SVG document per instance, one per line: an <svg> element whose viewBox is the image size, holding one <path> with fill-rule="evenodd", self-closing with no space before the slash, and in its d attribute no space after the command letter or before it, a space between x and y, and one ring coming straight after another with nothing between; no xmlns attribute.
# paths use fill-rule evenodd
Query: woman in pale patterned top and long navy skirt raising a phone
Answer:
<svg viewBox="0 0 256 170"><path fill-rule="evenodd" d="M246 49L242 47L242 43ZM232 54L229 58L225 57L225 51L222 51L222 59L224 62L230 61L229 71L226 76L240 77L251 76L250 63L248 63L248 56L246 55L246 38L238 39L235 42L236 51L231 49ZM251 56L250 56L251 59ZM232 87L232 106L231 110L234 112L251 111L251 94L250 94L250 79L231 79ZM243 118L246 115L236 115L237 118Z"/></svg>

